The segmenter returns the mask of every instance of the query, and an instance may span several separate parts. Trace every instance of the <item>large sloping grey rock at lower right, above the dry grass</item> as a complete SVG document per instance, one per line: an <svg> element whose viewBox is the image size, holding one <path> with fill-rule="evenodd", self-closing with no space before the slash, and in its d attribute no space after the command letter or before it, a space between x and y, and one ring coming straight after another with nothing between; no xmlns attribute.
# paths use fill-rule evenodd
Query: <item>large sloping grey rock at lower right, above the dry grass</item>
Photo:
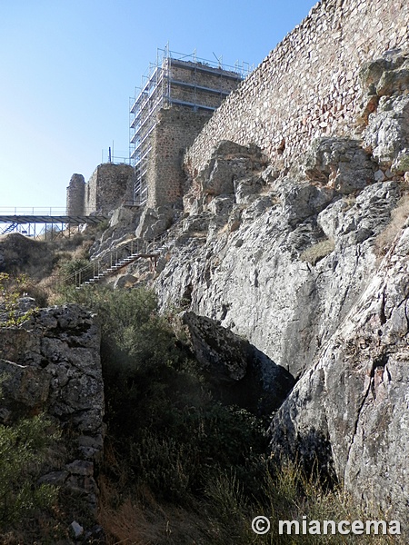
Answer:
<svg viewBox="0 0 409 545"><path fill-rule="evenodd" d="M276 455L319 461L364 506L408 522L409 228L274 417Z"/></svg>

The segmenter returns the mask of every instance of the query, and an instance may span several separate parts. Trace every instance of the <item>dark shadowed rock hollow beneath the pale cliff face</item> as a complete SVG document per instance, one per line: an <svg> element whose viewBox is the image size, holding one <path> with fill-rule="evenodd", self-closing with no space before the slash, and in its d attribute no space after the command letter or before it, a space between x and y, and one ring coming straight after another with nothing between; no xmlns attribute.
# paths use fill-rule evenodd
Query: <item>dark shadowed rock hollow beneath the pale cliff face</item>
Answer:
<svg viewBox="0 0 409 545"><path fill-rule="evenodd" d="M290 372L210 318L184 312L182 320L218 400L264 415L280 407L294 386Z"/></svg>

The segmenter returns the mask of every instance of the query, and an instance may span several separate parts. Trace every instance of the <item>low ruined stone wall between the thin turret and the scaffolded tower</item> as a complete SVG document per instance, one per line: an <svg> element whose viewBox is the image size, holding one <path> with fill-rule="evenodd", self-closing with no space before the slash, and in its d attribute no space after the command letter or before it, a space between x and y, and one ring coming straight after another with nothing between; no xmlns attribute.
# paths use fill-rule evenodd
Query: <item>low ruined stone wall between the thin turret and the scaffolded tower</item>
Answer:
<svg viewBox="0 0 409 545"><path fill-rule="evenodd" d="M103 163L85 185L85 211L109 213L133 193L134 169L129 164Z"/></svg>

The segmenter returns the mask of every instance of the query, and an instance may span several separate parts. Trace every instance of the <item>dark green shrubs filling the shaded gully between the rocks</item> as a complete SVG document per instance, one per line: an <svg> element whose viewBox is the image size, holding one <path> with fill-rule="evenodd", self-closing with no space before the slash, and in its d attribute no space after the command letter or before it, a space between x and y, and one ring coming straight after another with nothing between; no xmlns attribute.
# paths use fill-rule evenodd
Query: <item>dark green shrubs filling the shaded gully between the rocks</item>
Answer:
<svg viewBox="0 0 409 545"><path fill-rule="evenodd" d="M254 490L254 458L265 448L259 419L214 401L197 362L159 314L147 289L71 292L101 324L108 434L132 485L184 502L214 468L234 468Z"/></svg>

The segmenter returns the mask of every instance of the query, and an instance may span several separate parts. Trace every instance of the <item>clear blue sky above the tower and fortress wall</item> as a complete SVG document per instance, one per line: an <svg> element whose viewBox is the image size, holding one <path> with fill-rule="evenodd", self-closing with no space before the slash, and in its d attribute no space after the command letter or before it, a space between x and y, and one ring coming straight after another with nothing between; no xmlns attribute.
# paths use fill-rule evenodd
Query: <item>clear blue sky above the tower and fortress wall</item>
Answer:
<svg viewBox="0 0 409 545"><path fill-rule="evenodd" d="M0 0L0 207L65 206L127 156L129 97L156 49L260 64L315 0ZM1 213L1 212L0 212Z"/></svg>

